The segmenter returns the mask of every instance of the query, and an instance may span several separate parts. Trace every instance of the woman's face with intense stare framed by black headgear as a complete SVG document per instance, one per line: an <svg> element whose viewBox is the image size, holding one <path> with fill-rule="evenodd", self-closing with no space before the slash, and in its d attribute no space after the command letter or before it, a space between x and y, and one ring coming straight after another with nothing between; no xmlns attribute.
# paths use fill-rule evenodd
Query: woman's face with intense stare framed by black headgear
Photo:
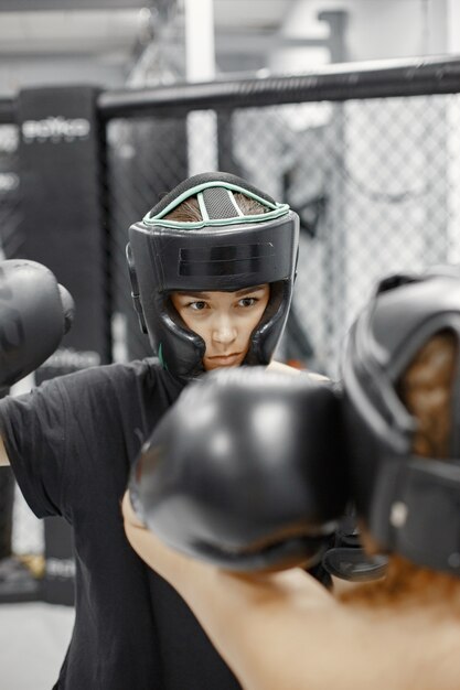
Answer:
<svg viewBox="0 0 460 690"><path fill-rule="evenodd" d="M200 335L206 349L205 371L238 367L249 349L249 338L270 297L268 283L237 292L173 292L171 301L184 324Z"/></svg>

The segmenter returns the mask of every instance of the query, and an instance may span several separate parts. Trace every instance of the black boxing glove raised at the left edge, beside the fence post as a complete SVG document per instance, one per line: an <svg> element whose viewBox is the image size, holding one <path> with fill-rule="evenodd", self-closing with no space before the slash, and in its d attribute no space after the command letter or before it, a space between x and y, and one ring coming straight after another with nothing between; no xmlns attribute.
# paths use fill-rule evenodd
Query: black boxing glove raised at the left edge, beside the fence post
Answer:
<svg viewBox="0 0 460 690"><path fill-rule="evenodd" d="M46 267L35 261L0 262L0 386L36 369L72 324L74 302Z"/></svg>

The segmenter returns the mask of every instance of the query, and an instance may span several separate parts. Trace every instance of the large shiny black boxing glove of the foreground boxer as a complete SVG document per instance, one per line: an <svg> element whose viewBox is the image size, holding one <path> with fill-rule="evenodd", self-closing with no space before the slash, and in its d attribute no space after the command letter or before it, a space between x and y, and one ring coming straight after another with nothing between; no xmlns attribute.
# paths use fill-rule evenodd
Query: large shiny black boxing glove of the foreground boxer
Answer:
<svg viewBox="0 0 460 690"><path fill-rule="evenodd" d="M347 497L329 382L261 367L191 384L143 446L132 506L171 547L231 570L318 562Z"/></svg>

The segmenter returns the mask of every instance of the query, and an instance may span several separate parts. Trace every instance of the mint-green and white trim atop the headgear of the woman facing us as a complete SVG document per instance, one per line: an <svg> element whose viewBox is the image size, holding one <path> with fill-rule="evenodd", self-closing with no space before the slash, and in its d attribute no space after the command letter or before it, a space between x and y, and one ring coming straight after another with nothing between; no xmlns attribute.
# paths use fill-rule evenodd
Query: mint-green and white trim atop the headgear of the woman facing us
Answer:
<svg viewBox="0 0 460 690"><path fill-rule="evenodd" d="M224 187L225 190L228 190L229 192L238 192L240 194L244 194L245 196L248 196L249 198L253 198L254 201L258 202L259 204L261 204L266 208L269 208L270 211L268 211L267 213L259 213L259 214L254 214L254 215L248 215L248 216L238 215L233 218L213 218L213 219L206 218L206 219L196 220L193 223L163 219L164 216L170 214L172 211L174 211L174 208L180 206L182 202L185 202L191 196L199 196L199 205L200 205L200 208L202 209L203 204L200 203L200 193L203 190L206 190L210 187ZM232 184L229 182L222 182L222 181L213 181L213 182L204 182L202 184L197 184L194 187L191 187L190 190L186 190L186 192L178 196L173 202L171 202L165 208L163 208L156 216L150 216L150 212L149 212L142 218L142 222L148 226L161 225L162 227L170 227L170 228L178 228L178 229L181 229L184 227L190 228L190 229L200 229L203 227L212 227L212 226L220 226L220 225L239 225L242 223L260 223L264 220L274 220L275 218L279 218L280 216L284 216L288 212L289 212L288 204L271 203L268 200L263 198L258 194L255 194L254 192L250 192L249 190L246 190L245 187L242 187L237 184ZM204 216L203 211L202 211L202 215Z"/></svg>

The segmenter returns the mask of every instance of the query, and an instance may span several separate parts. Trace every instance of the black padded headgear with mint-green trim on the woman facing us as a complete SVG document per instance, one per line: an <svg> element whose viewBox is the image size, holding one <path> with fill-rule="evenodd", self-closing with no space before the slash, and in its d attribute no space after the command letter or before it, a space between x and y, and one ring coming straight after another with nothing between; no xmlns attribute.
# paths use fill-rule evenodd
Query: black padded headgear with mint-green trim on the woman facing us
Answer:
<svg viewBox="0 0 460 690"><path fill-rule="evenodd" d="M255 200L265 213L244 215L235 193ZM191 197L197 198L201 220L164 218ZM270 284L270 300L245 364L268 364L288 316L298 246L299 219L287 204L222 172L185 180L132 225L127 247L132 298L163 366L184 381L203 371L205 344L180 320L171 292L236 292L263 283Z"/></svg>

